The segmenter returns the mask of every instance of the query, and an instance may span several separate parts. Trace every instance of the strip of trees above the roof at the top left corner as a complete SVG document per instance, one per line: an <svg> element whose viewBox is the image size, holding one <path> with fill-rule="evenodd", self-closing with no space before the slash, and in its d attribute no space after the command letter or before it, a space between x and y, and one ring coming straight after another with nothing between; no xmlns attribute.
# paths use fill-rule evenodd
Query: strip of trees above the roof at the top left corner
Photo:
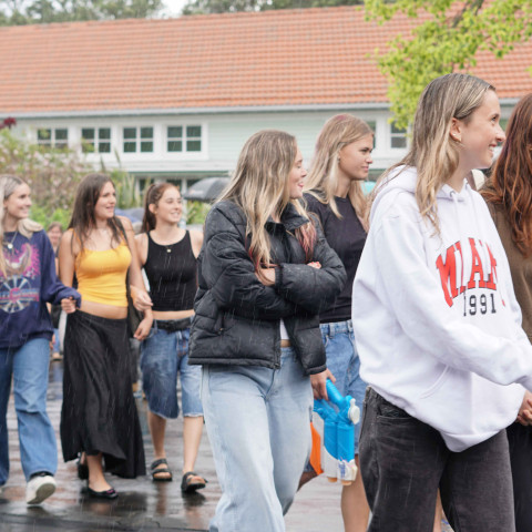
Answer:
<svg viewBox="0 0 532 532"><path fill-rule="evenodd" d="M162 0L3 0L0 25L146 18L162 6Z"/></svg>

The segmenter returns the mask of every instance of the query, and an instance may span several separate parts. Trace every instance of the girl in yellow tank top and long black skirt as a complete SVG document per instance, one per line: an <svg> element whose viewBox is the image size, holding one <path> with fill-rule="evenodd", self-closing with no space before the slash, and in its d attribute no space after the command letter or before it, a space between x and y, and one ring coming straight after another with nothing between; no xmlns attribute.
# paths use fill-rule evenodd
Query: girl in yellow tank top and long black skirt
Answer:
<svg viewBox="0 0 532 532"><path fill-rule="evenodd" d="M89 494L114 499L105 470L124 478L145 473L141 427L130 376L126 275L139 310L149 310L131 222L114 215L114 185L104 174L80 183L69 229L61 239L62 282L78 280L81 310L64 338L61 442L65 461L81 454L78 473ZM149 313L147 313L149 314ZM135 338L150 330L146 317Z"/></svg>

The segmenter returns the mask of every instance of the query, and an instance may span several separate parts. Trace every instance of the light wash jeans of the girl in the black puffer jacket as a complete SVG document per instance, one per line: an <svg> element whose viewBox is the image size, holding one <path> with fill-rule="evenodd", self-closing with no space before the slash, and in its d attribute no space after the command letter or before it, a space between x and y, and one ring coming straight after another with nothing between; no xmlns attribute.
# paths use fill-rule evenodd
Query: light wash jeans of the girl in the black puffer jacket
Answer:
<svg viewBox="0 0 532 532"><path fill-rule="evenodd" d="M290 348L280 369L204 366L202 400L222 498L211 532L284 532L310 453L313 391Z"/></svg>

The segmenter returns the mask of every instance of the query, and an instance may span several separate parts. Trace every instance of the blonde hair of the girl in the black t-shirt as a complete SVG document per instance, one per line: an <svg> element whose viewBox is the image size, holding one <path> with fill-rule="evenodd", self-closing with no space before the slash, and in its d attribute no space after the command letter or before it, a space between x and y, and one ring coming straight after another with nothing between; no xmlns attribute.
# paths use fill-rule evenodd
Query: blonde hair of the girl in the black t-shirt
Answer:
<svg viewBox="0 0 532 532"><path fill-rule="evenodd" d="M339 153L348 144L372 134L371 127L364 120L352 114L337 114L325 123L318 135L305 190L323 204L329 205L338 218L341 216L336 205L335 193L338 188ZM367 202L360 181L351 181L347 197L357 215L364 219Z"/></svg>

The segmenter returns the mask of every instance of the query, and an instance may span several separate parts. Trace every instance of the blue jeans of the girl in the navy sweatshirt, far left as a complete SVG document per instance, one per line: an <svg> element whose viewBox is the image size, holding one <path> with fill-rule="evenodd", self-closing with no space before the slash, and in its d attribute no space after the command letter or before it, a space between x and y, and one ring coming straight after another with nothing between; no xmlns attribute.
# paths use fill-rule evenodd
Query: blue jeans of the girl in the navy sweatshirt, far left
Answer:
<svg viewBox="0 0 532 532"><path fill-rule="evenodd" d="M6 418L11 376L25 480L39 471L55 474L58 469L55 434L47 413L49 362L50 342L45 338L29 340L16 349L0 349L0 485L9 477Z"/></svg>

